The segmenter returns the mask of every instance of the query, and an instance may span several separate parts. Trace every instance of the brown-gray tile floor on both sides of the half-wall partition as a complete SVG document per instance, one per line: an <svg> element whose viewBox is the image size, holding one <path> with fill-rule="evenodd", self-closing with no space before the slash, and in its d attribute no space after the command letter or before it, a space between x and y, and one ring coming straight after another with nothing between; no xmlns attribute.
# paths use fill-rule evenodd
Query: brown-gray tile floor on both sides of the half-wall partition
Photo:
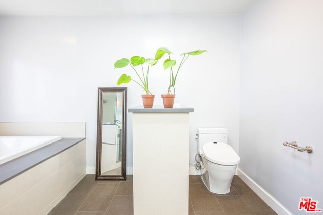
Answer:
<svg viewBox="0 0 323 215"><path fill-rule="evenodd" d="M54 214L133 214L132 175L127 181L95 181L86 175L62 201ZM200 176L189 176L189 214L276 214L238 176L234 176L230 193L211 193Z"/></svg>

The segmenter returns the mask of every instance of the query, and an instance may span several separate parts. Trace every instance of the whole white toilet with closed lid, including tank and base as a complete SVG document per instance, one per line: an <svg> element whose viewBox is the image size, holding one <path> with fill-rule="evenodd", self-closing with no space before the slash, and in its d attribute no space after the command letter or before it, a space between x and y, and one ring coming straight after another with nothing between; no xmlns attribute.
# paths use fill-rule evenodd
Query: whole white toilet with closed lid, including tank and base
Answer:
<svg viewBox="0 0 323 215"><path fill-rule="evenodd" d="M212 193L226 194L240 162L239 155L227 144L226 128L198 128L197 147L200 154L201 178Z"/></svg>

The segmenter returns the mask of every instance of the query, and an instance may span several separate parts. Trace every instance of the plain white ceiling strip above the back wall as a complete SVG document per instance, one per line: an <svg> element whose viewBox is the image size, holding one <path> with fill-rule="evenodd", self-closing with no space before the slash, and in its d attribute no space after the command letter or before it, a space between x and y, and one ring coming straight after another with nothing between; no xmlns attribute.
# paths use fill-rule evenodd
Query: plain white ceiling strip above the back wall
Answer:
<svg viewBox="0 0 323 215"><path fill-rule="evenodd" d="M0 0L0 16L239 14L254 0Z"/></svg>

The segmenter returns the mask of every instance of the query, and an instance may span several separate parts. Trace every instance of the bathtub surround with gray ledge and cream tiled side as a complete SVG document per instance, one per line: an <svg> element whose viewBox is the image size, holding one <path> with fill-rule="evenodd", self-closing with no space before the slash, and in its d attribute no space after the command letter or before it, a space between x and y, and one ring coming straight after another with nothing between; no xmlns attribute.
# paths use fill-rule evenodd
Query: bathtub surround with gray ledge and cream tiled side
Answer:
<svg viewBox="0 0 323 215"><path fill-rule="evenodd" d="M86 140L62 138L0 168L0 214L47 214L85 176Z"/></svg>

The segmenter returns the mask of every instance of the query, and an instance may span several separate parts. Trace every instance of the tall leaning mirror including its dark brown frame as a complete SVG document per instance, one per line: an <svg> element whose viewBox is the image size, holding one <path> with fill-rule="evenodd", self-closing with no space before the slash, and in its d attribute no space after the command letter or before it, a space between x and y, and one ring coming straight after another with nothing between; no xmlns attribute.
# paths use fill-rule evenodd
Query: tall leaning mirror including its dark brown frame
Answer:
<svg viewBox="0 0 323 215"><path fill-rule="evenodd" d="M126 180L127 88L98 88L95 180Z"/></svg>

